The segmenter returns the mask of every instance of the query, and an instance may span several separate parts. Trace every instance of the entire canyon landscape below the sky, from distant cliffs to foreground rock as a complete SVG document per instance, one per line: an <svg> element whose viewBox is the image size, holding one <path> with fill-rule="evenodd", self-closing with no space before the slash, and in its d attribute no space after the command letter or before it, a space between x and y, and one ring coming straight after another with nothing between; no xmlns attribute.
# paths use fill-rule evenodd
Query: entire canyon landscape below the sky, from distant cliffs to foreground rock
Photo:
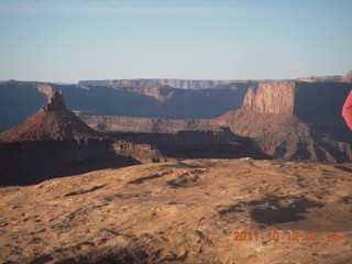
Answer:
<svg viewBox="0 0 352 264"><path fill-rule="evenodd" d="M351 263L348 80L0 84L0 262Z"/></svg>

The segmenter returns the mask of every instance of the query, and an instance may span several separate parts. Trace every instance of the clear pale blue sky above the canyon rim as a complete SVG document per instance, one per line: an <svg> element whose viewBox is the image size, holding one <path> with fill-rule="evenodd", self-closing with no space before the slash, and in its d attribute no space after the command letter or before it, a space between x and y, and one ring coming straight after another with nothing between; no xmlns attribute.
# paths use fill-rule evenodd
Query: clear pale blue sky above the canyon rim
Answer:
<svg viewBox="0 0 352 264"><path fill-rule="evenodd" d="M293 79L348 70L351 0L0 0L0 79Z"/></svg>

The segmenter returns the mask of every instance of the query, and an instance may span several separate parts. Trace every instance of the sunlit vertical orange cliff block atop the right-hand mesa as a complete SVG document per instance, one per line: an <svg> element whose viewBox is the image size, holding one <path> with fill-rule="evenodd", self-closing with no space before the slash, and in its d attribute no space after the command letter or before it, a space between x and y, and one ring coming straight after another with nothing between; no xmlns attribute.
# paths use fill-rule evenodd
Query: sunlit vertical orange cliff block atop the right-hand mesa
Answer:
<svg viewBox="0 0 352 264"><path fill-rule="evenodd" d="M249 88L242 109L263 113L293 113L295 81L265 81Z"/></svg>

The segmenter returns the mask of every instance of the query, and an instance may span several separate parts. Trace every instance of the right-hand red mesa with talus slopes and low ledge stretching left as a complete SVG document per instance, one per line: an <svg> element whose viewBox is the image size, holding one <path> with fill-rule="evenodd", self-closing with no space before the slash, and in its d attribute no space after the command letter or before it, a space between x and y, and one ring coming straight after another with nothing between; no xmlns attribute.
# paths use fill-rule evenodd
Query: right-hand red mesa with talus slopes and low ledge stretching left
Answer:
<svg viewBox="0 0 352 264"><path fill-rule="evenodd" d="M248 89L240 109L215 119L81 119L94 128L134 132L229 127L237 134L253 138L262 151L277 158L351 162L351 132L341 117L351 89L351 84L341 81L265 81Z"/></svg>

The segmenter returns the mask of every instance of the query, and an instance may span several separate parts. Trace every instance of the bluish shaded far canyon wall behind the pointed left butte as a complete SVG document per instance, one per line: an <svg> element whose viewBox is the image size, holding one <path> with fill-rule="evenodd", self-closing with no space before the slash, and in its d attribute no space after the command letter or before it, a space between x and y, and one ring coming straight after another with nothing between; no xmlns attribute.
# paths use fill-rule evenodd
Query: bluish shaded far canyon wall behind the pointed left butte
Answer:
<svg viewBox="0 0 352 264"><path fill-rule="evenodd" d="M63 90L69 109L90 116L208 119L240 108L249 85L185 90L141 81L113 82L110 87L8 81L0 84L0 132L34 114L53 90Z"/></svg>

